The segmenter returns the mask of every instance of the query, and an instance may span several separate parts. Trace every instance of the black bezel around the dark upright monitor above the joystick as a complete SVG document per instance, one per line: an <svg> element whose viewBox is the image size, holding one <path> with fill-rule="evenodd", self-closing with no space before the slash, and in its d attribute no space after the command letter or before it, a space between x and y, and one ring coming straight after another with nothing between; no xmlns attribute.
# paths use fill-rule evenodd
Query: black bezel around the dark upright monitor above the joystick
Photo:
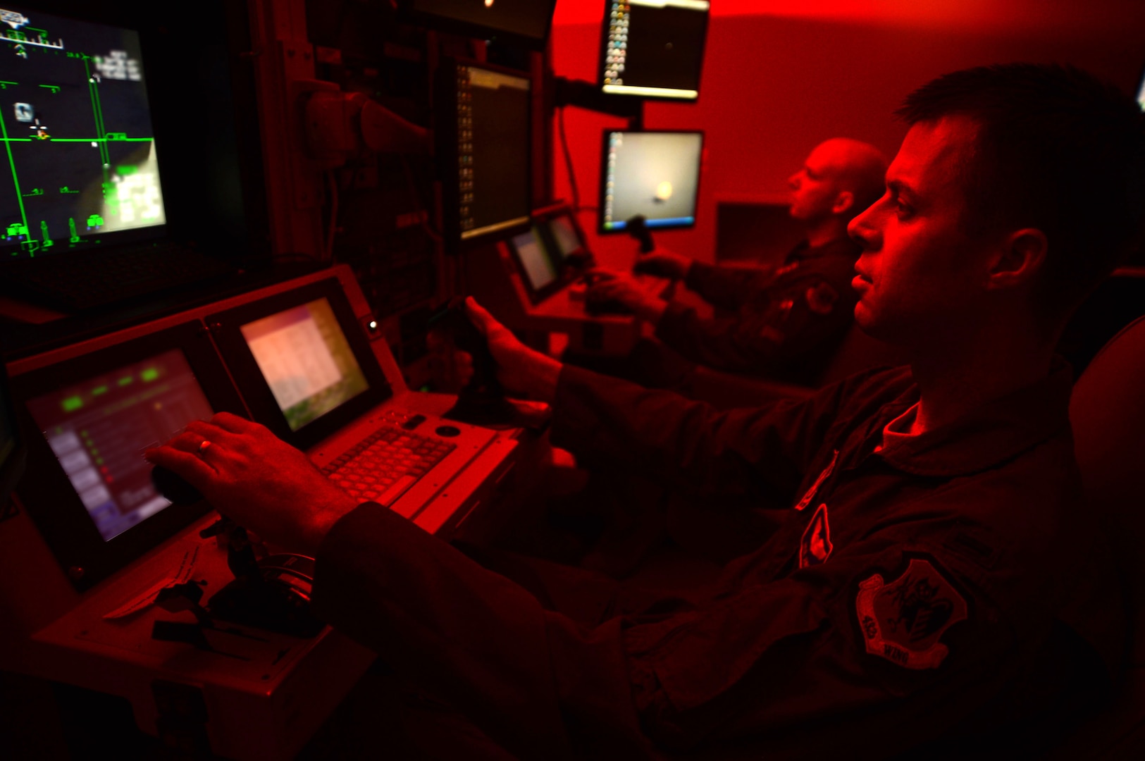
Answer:
<svg viewBox="0 0 1145 761"><path fill-rule="evenodd" d="M458 166L458 135L457 135L457 77L455 74L456 68L463 66L476 66L479 69L484 69L487 71L492 71L499 74L506 74L510 77L518 77L524 79L529 82L529 128L527 130L528 141L524 149L526 153L526 175L528 177L528 191L526 193L527 200L526 205L530 208L521 222L514 224L505 224L495 230L489 230L482 232L481 235L469 236L468 238L463 238L461 230L461 203L460 203L460 188L458 187L457 180L457 166ZM458 254L463 251L468 251L476 248L479 246L488 245L491 243L497 243L499 240L506 240L514 235L524 232L532 224L531 217L531 205L534 195L534 183L532 183L532 98L535 95L535 88L537 82L535 81L532 74L527 71L521 71L519 69L511 69L507 66L499 66L497 64L485 63L483 61L476 61L473 58L459 58L450 57L443 58L441 64L437 66L437 71L434 77L434 100L435 100L435 112L437 113L435 122L435 152L437 157L437 173L441 180L441 208L442 208L442 231L443 231L443 244L445 252L449 254Z"/></svg>

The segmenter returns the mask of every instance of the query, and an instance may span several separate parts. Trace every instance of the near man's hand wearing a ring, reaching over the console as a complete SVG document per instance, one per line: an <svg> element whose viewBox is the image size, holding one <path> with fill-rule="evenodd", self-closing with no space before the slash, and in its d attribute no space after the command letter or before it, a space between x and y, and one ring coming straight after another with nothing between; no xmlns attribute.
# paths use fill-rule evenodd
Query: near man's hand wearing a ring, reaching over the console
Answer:
<svg viewBox="0 0 1145 761"><path fill-rule="evenodd" d="M185 478L238 525L307 555L357 507L306 454L229 412L191 422L144 457Z"/></svg>

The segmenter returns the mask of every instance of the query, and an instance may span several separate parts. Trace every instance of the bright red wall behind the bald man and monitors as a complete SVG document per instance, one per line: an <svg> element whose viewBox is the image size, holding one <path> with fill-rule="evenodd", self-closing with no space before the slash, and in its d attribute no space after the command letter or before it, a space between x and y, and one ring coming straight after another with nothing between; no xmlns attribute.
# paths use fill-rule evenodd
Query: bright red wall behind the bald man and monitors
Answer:
<svg viewBox="0 0 1145 761"><path fill-rule="evenodd" d="M706 133L697 224L693 230L656 233L657 241L711 261L717 199L781 201L787 176L828 137L866 140L893 156L905 129L891 111L914 87L946 71L1008 61L1057 61L1134 90L1145 64L1140 14L1124 23L1059 21L1042 19L1035 31L995 25L978 33L964 29L966 24L947 31L883 22L713 16L698 103L650 103L645 112L648 128ZM598 24L555 24L555 73L593 80L598 46ZM625 122L574 108L564 118L581 204L595 206L601 129ZM555 195L570 199L559 141L553 164ZM631 238L595 237L591 232L595 212L584 212L582 223L593 237L598 259L616 267L631 263L635 252Z"/></svg>

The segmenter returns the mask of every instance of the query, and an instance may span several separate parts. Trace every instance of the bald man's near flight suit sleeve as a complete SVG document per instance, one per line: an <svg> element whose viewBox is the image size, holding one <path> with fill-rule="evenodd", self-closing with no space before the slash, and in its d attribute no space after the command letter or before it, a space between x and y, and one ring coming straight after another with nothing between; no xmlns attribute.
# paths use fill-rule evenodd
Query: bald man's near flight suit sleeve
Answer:
<svg viewBox="0 0 1145 761"><path fill-rule="evenodd" d="M768 299L747 303L734 317L702 319L694 309L670 303L656 336L687 359L716 370L767 373L834 350L851 325L854 293L831 278L799 278L774 288Z"/></svg>

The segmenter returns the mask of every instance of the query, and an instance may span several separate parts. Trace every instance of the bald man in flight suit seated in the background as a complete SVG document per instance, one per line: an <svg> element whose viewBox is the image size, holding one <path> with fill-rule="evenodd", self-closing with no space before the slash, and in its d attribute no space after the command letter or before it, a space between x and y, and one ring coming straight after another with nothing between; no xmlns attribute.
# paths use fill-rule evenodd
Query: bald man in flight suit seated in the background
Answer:
<svg viewBox="0 0 1145 761"><path fill-rule="evenodd" d="M662 342L642 342L623 374L685 393L695 364L813 385L853 319L859 246L847 237L847 223L882 195L886 166L877 148L856 140L815 146L788 180L790 214L806 238L779 267L719 267L666 252L641 257L638 271L682 279L731 317L701 318L682 303L647 294L627 275L602 272L592 296L623 303L654 325Z"/></svg>

